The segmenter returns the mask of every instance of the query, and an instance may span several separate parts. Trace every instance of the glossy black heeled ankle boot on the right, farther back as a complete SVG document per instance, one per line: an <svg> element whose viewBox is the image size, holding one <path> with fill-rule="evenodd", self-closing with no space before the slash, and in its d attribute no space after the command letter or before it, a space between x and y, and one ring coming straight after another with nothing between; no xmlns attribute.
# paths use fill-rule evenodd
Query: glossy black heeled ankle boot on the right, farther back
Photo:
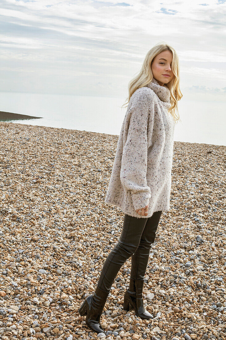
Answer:
<svg viewBox="0 0 226 340"><path fill-rule="evenodd" d="M144 308L143 285L144 280L130 279L129 289L126 290L124 295L123 309L134 309L136 316L149 320L153 319L153 315Z"/></svg>

